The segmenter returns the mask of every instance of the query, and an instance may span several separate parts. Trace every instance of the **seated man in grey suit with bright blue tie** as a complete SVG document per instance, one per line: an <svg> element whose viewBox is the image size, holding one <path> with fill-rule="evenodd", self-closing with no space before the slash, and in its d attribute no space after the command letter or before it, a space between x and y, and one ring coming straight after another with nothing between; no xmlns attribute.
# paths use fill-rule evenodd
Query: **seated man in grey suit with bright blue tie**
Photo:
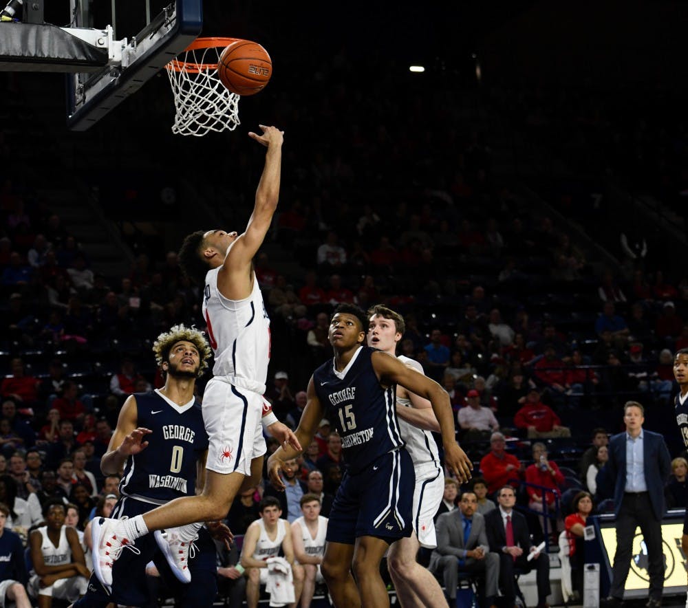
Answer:
<svg viewBox="0 0 688 608"><path fill-rule="evenodd" d="M493 605L497 597L499 556L490 553L485 534L484 517L477 512L477 496L463 492L459 508L438 518L437 548L430 558L431 572L442 572L444 589L450 605L456 603L458 574L485 572L484 606Z"/></svg>

